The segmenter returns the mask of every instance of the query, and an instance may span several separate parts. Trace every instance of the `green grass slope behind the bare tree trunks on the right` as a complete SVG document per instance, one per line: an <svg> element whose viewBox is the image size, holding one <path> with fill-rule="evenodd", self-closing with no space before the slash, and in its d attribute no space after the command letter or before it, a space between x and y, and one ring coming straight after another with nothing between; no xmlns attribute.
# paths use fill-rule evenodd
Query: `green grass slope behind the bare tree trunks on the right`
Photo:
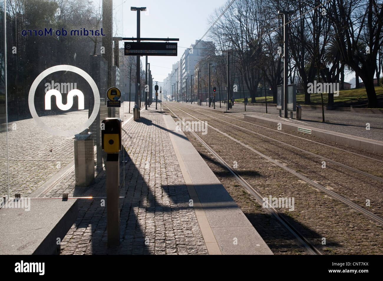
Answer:
<svg viewBox="0 0 383 281"><path fill-rule="evenodd" d="M375 87L376 96L378 98L383 97L383 87ZM249 101L251 101L250 97L248 97ZM243 102L243 99L236 99L236 102ZM265 97L256 97L256 102L264 103ZM340 90L339 96L334 97L335 104L344 104L345 107L352 105L355 102L365 101L368 102L367 93L365 88L360 89L348 89L348 90ZM272 103L273 97L267 97L267 103ZM323 94L323 102L324 105L327 105L327 94ZM304 93L296 94L296 103L304 104ZM311 104L312 105L321 105L321 94L311 94Z"/></svg>

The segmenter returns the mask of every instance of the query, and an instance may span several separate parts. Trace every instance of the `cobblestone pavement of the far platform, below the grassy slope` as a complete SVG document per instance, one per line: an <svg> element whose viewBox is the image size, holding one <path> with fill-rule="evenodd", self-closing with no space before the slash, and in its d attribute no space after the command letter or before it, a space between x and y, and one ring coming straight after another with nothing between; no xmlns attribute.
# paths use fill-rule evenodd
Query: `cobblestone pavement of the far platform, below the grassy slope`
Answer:
<svg viewBox="0 0 383 281"><path fill-rule="evenodd" d="M195 104L195 106L197 106ZM217 110L226 110L226 104L216 102ZM206 104L203 103L202 108L206 109ZM208 107L209 108L209 107ZM367 114L355 113L340 110L325 110L324 117L326 123L322 123L322 110L302 108L302 120L296 121L279 117L279 110L276 107L268 106L267 114L265 106L246 106L242 103L234 104L233 108L229 111L243 117L246 115L255 115L269 119L282 120L299 125L306 125L308 127L319 128L339 132L347 135L359 136L361 138L370 138L372 140L383 141L383 115L382 114ZM289 113L290 117L290 113ZM295 112L293 114L295 119ZM366 123L370 123L370 130L366 130Z"/></svg>

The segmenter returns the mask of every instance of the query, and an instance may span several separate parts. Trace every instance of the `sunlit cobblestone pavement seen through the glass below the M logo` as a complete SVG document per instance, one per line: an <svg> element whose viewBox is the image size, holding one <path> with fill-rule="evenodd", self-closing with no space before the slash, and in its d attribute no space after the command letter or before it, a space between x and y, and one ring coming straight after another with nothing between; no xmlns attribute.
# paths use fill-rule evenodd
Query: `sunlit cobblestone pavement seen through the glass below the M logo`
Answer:
<svg viewBox="0 0 383 281"><path fill-rule="evenodd" d="M124 111L124 116L121 119L128 119L132 115L128 113L128 105L129 102L122 103L121 112ZM134 102L131 102L133 106ZM43 116L41 119L52 128L68 130L84 123L87 117L88 110L79 110ZM0 143L0 204L3 196L8 195L8 162L10 197L15 193L27 197L74 160L73 136L66 138L51 135L33 119L8 123L9 161L5 124L0 125Z"/></svg>

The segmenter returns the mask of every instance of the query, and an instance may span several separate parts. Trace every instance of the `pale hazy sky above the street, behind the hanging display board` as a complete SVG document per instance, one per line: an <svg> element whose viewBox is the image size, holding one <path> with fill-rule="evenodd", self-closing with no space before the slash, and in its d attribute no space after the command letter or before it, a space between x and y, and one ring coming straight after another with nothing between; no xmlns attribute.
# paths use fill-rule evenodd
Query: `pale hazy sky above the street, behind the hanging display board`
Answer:
<svg viewBox="0 0 383 281"><path fill-rule="evenodd" d="M116 0L115 3L122 0ZM123 0L123 37L137 36L137 11L131 6L145 7L141 11L141 37L179 38L178 57L148 56L154 81L163 81L172 71L172 64L177 62L185 48L201 39L210 26L207 18L215 8L224 5L226 0ZM117 4L119 5L119 4ZM115 4L116 6L116 4ZM117 11L122 13L122 11ZM207 40L205 37L203 40ZM141 57L145 65L145 57Z"/></svg>

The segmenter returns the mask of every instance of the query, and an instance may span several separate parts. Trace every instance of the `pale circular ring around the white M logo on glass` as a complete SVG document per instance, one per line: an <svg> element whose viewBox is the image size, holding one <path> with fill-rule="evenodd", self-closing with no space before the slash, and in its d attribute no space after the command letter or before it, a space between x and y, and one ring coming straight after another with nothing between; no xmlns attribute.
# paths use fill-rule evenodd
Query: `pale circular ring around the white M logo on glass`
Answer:
<svg viewBox="0 0 383 281"><path fill-rule="evenodd" d="M71 71L80 75L89 83L90 88L92 88L92 91L93 91L93 96L95 97L95 104L93 106L93 111L89 119L87 120L87 122L83 123L79 127L75 127L72 130L61 131L61 130L56 130L54 128L47 126L43 122L43 120L41 120L39 115L37 115L36 108L34 107L34 94L36 92L38 84L41 82L41 80L43 80L44 77L57 71ZM74 67L73 65L55 65L54 67L49 67L48 69L41 72L33 81L31 85L31 89L29 89L28 105L29 105L29 111L31 112L33 119L41 128L43 128L43 130L47 131L48 133L51 133L52 135L73 136L75 134L82 132L86 128L88 128L96 119L98 110L100 109L100 93L98 92L98 88L95 81L92 79L92 77L90 77L88 73L86 73L82 69L78 67Z"/></svg>

